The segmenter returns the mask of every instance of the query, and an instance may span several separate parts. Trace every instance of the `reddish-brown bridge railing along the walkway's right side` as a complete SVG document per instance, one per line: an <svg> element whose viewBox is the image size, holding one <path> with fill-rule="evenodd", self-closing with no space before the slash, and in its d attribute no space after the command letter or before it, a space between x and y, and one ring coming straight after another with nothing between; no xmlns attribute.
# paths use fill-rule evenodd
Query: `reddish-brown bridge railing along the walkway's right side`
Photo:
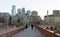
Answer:
<svg viewBox="0 0 60 37"><path fill-rule="evenodd" d="M35 25L35 27L43 35L42 37L60 37L60 36L56 35L55 33L51 33L45 29L40 28L39 25Z"/></svg>

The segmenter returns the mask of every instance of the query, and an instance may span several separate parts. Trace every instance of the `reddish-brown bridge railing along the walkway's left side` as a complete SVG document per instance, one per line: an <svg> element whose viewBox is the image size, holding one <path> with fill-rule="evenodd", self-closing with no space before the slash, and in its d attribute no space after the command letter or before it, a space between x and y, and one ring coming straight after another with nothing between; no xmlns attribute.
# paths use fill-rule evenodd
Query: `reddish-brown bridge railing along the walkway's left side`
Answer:
<svg viewBox="0 0 60 37"><path fill-rule="evenodd" d="M10 31L10 32L6 32L4 34L0 34L0 37L13 37L16 33L22 31L25 29L25 26L22 26L22 27L19 27L13 31Z"/></svg>

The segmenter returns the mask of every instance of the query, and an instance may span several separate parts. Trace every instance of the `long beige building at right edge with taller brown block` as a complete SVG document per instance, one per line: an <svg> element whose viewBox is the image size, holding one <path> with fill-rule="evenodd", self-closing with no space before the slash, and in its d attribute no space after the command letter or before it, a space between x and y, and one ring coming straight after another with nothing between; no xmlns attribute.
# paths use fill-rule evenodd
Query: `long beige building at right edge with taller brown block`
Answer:
<svg viewBox="0 0 60 37"><path fill-rule="evenodd" d="M55 25L60 24L60 10L53 10L53 14L44 16L44 20L45 20L45 23L48 23L48 24L55 24Z"/></svg>

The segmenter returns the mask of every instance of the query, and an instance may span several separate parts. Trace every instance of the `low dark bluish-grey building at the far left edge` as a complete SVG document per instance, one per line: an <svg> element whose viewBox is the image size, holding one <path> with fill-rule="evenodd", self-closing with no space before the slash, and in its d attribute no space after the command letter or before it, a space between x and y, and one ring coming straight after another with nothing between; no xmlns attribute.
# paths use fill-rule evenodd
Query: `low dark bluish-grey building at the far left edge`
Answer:
<svg viewBox="0 0 60 37"><path fill-rule="evenodd" d="M0 13L0 25L8 25L10 23L9 21L10 14L2 12Z"/></svg>

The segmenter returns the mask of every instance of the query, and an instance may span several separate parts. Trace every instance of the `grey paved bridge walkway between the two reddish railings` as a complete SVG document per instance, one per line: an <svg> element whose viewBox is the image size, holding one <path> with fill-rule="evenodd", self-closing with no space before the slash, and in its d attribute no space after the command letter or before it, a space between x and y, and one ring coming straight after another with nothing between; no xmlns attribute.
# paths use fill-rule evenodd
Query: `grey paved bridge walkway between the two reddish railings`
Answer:
<svg viewBox="0 0 60 37"><path fill-rule="evenodd" d="M14 37L40 37L40 35L35 28L31 30L31 27L29 27L24 31L17 33L16 35L14 35Z"/></svg>

